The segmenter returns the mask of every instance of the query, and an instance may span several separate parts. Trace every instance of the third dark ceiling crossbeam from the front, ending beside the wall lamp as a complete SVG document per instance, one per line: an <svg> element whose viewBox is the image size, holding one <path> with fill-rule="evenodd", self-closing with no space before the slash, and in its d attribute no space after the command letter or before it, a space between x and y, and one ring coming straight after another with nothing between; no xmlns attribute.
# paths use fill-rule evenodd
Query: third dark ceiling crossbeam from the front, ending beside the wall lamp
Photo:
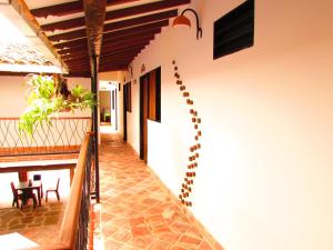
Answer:
<svg viewBox="0 0 333 250"><path fill-rule="evenodd" d="M175 17L176 14L178 14L178 10L170 10L170 11L164 11L161 13L154 13L154 14L143 16L140 18L128 19L124 21L111 22L111 23L107 23L107 24L104 23L103 32L110 32L110 31L114 31L118 29L124 29L124 28L129 28L129 27L147 24L149 22L161 21L161 20L165 20L165 19L172 18L172 17ZM80 30L75 30L75 31L71 31L71 32L64 32L64 33L50 36L49 39L50 39L50 41L60 41L60 40L79 39L79 38L84 38L84 37L87 37L85 29L80 29Z"/></svg>

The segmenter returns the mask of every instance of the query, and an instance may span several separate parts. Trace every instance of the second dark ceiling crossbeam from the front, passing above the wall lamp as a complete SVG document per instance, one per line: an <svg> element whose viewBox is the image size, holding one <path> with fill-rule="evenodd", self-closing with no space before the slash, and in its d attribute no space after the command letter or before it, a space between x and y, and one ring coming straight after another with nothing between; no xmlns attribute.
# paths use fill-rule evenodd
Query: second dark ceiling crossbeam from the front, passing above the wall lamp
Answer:
<svg viewBox="0 0 333 250"><path fill-rule="evenodd" d="M168 8L173 8L190 3L191 0L163 0L158 2L145 3L141 6L128 7L118 10L111 10L105 13L105 21L111 21L120 18L127 18L134 14L143 14L151 11L159 11ZM87 18L87 16L85 16ZM72 28L83 27L84 17L73 18L64 21L52 22L41 26L44 31L68 30Z"/></svg>

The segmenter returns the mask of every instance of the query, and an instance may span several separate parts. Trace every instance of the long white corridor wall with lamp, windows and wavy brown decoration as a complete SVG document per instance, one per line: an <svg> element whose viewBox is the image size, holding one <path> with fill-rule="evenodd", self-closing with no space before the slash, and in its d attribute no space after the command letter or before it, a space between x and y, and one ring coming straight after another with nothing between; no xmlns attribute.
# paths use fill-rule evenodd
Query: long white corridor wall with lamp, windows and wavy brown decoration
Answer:
<svg viewBox="0 0 333 250"><path fill-rule="evenodd" d="M333 2L258 0L254 47L215 61L213 22L242 1L192 2L203 39L169 27L132 63L138 81L142 63L162 68L149 166L180 192L194 134L175 60L202 118L196 218L228 250L332 250ZM139 152L139 83L132 101Z"/></svg>

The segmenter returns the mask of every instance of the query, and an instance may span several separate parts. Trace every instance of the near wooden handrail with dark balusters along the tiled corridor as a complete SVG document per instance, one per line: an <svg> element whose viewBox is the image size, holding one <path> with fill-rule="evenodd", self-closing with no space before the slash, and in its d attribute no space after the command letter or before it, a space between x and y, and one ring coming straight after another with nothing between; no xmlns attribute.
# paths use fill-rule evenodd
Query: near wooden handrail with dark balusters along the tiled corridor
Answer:
<svg viewBox="0 0 333 250"><path fill-rule="evenodd" d="M88 132L80 150L73 182L62 218L59 241L56 246L41 246L30 248L31 250L87 249L92 151L92 137L91 132Z"/></svg>

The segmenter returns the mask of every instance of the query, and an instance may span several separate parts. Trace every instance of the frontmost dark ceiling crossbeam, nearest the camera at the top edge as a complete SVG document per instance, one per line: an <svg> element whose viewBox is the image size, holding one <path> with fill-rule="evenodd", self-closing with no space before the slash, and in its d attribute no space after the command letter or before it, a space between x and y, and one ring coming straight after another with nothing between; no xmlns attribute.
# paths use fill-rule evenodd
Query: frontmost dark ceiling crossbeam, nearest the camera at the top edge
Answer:
<svg viewBox="0 0 333 250"><path fill-rule="evenodd" d="M107 6L118 6L118 4L134 2L134 1L138 0L107 0ZM84 11L83 2L82 0L80 0L80 1L64 2L56 6L37 8L31 10L31 13L38 18L47 18L49 16L62 17L65 14L73 14L83 11Z"/></svg>

